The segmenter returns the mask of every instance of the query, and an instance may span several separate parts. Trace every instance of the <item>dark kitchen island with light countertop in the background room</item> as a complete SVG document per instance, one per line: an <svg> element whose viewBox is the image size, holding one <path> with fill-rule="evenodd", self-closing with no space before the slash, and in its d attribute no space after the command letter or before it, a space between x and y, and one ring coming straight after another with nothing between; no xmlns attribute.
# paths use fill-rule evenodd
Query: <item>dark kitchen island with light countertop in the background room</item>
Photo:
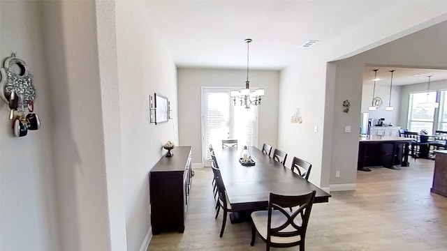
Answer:
<svg viewBox="0 0 447 251"><path fill-rule="evenodd" d="M367 167L383 166L399 170L408 167L409 144L411 138L365 135L360 136L357 169L370 172Z"/></svg>

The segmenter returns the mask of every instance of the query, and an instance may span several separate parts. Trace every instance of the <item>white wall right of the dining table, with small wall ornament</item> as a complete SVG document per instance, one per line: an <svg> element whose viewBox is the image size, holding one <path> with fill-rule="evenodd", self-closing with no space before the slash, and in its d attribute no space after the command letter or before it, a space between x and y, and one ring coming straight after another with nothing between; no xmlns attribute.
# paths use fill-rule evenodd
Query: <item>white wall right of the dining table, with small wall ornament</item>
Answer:
<svg viewBox="0 0 447 251"><path fill-rule="evenodd" d="M302 71L310 58L302 58L300 63L281 71L279 87L279 136L278 146L291 156L286 161L290 167L293 156L312 163L309 181L321 184L321 161L323 153L323 115L325 113L326 63L323 59L315 60L315 67ZM291 123L290 119L300 108L302 123ZM314 127L317 132L314 132ZM324 185L323 185L324 186Z"/></svg>

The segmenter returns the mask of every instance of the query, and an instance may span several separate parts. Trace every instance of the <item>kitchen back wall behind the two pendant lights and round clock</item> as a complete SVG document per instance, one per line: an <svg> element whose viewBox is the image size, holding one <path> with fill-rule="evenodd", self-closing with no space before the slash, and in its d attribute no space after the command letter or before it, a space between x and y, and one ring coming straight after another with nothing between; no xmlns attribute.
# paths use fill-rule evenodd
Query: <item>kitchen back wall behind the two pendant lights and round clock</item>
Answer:
<svg viewBox="0 0 447 251"><path fill-rule="evenodd" d="M401 114L400 109L400 99L402 96L402 86L393 86L393 89L391 90L391 106L394 107L393 111L386 111L385 107L388 106L388 102L390 100L390 83L381 83L378 84L376 82L376 91L375 97L382 98L383 104L381 107L377 108L375 111L369 111L368 107L372 105L372 92L374 90L374 82L367 82L363 83L362 86L362 105L360 108L361 112L367 112L369 113L369 119L374 119L374 123L378 119L385 118L385 123L393 123L393 126L402 126L402 128L405 128L404 125L400 124L399 116ZM402 110L403 111L403 110ZM359 129L360 130L360 129Z"/></svg>

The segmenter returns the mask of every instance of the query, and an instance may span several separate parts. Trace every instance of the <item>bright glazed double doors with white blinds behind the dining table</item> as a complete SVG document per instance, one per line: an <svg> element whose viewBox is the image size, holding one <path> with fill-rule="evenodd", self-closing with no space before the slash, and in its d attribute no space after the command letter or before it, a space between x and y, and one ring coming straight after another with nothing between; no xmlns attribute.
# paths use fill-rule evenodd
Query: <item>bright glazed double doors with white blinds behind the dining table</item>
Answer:
<svg viewBox="0 0 447 251"><path fill-rule="evenodd" d="M208 146L221 147L222 139L237 139L238 146L258 144L258 107L234 105L230 91L237 88L203 89L203 146L205 165L211 159Z"/></svg>

